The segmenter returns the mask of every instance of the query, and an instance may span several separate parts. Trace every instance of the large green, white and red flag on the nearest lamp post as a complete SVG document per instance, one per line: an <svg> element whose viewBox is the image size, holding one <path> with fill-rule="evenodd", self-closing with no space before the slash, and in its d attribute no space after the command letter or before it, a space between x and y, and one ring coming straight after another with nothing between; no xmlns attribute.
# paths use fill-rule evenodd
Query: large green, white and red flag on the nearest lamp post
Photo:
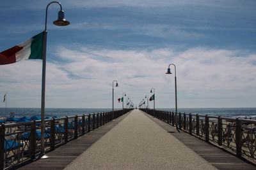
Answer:
<svg viewBox="0 0 256 170"><path fill-rule="evenodd" d="M20 45L0 53L0 65L12 64L26 59L42 59L44 31Z"/></svg>

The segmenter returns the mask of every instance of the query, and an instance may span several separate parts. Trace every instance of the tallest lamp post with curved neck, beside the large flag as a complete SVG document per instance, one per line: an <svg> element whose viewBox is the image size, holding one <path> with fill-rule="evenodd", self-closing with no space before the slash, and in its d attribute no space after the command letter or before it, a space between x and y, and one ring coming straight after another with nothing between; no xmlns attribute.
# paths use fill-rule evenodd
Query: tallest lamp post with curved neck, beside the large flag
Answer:
<svg viewBox="0 0 256 170"><path fill-rule="evenodd" d="M42 53L42 59L43 59L43 64L42 64L42 100L41 100L41 159L47 158L46 155L44 155L44 149L45 149L45 144L44 144L44 133L45 133L45 121L44 121L44 112L45 112L45 66L46 66L46 49L47 49L47 11L48 7L52 3L57 3L60 5L60 11L58 12L58 19L53 22L54 25L58 26L66 26L69 25L70 22L65 20L65 14L64 11L62 10L62 6L59 2L57 1L52 1L49 3L46 7L46 13L45 13L45 30L44 30L44 44L43 44L43 53Z"/></svg>

